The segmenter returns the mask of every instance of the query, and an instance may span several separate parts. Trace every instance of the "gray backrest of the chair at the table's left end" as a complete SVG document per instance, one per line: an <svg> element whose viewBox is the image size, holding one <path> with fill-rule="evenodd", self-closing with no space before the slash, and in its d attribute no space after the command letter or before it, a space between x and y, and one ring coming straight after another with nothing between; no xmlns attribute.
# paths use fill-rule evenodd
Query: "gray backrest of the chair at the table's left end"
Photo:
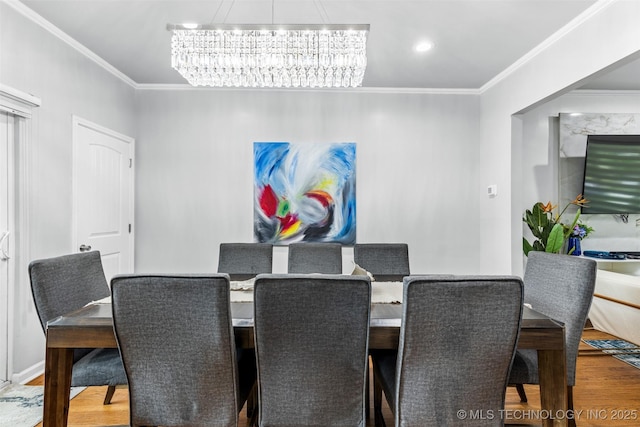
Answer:
<svg viewBox="0 0 640 427"><path fill-rule="evenodd" d="M111 293L98 251L32 261L29 279L33 302L45 332L49 320Z"/></svg>

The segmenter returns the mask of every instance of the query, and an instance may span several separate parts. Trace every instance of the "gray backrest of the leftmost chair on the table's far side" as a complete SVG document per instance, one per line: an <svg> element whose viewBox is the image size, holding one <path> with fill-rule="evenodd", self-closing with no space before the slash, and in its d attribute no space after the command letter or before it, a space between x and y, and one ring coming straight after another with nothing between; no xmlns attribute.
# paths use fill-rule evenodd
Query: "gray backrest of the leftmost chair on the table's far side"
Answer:
<svg viewBox="0 0 640 427"><path fill-rule="evenodd" d="M231 280L247 280L260 273L271 273L272 265L271 243L220 243L218 273L227 273Z"/></svg>

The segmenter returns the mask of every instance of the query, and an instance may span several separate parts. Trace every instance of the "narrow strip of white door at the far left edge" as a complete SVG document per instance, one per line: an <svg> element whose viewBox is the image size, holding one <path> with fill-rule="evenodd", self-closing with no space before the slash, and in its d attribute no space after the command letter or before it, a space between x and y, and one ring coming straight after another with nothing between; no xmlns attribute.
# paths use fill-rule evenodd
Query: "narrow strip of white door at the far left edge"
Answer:
<svg viewBox="0 0 640 427"><path fill-rule="evenodd" d="M13 116L0 113L0 386L9 380L9 244L11 243L10 215L12 200L9 194L9 149L13 142ZM11 204L11 206L10 206Z"/></svg>

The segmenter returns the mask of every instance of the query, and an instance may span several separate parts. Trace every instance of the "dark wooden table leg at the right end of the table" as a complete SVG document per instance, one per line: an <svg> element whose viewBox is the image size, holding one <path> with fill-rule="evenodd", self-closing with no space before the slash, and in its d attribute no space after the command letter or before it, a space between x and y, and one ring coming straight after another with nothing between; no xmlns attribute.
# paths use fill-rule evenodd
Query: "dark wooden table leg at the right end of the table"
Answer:
<svg viewBox="0 0 640 427"><path fill-rule="evenodd" d="M567 368L563 350L538 350L540 403L545 427L567 425Z"/></svg>

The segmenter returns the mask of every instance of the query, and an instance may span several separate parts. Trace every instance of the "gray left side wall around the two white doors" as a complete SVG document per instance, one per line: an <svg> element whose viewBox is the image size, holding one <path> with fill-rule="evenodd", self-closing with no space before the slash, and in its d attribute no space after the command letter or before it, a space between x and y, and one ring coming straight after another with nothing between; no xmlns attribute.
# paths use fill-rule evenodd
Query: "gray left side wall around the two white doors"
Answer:
<svg viewBox="0 0 640 427"><path fill-rule="evenodd" d="M134 89L86 56L0 3L0 82L42 100L29 147L29 259L71 247L72 115L135 137ZM13 288L13 368L44 359L44 335L23 260ZM24 375L29 375L25 373Z"/></svg>

